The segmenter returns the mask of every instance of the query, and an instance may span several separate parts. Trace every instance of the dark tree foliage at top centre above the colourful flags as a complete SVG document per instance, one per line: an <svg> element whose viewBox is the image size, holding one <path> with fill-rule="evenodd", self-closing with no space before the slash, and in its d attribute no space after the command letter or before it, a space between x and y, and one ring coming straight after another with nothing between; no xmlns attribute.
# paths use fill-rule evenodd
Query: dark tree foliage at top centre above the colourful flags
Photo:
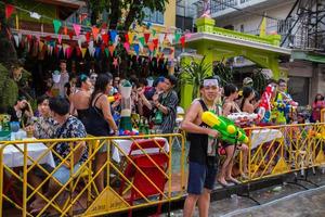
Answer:
<svg viewBox="0 0 325 217"><path fill-rule="evenodd" d="M165 12L168 0L87 0L91 12L91 24L96 25L100 14L108 14L109 29L128 30L133 22L142 24L145 18L144 9Z"/></svg>

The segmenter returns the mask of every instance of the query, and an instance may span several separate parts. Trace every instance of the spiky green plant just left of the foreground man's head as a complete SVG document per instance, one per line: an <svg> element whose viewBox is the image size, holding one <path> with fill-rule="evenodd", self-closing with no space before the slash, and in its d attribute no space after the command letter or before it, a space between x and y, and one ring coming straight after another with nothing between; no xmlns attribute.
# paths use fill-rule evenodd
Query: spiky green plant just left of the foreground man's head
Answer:
<svg viewBox="0 0 325 217"><path fill-rule="evenodd" d="M193 86L193 99L199 97L199 86L202 85L203 80L211 76L211 64L205 62L204 56L199 62L192 61L190 63L184 63L181 66L181 72L178 74L179 79L179 87L183 85L192 85Z"/></svg>

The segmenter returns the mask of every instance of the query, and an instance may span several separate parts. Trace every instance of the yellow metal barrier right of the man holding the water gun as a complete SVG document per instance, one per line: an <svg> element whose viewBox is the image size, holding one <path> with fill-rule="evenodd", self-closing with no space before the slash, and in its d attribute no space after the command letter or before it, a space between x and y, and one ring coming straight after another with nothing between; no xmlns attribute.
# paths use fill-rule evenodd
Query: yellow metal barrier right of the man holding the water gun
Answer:
<svg viewBox="0 0 325 217"><path fill-rule="evenodd" d="M278 176L325 164L323 124L246 128L249 135L247 180ZM239 169L243 173L243 153Z"/></svg>

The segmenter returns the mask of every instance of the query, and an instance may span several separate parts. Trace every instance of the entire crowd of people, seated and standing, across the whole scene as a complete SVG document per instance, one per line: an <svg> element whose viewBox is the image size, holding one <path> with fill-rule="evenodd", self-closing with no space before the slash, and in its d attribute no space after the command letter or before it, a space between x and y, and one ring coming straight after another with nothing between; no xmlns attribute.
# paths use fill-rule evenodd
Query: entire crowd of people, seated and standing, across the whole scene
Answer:
<svg viewBox="0 0 325 217"><path fill-rule="evenodd" d="M60 64L60 79L48 80L48 90L37 100L37 111L32 111L30 103L24 98L20 98L16 104L8 110L11 122L20 122L26 131L31 131L35 138L83 138L87 135L95 137L118 136L118 115L121 112L121 100L116 98L109 102L108 95L120 94L120 87L125 78L113 77L110 73L89 75L81 74L78 77L70 77L66 71L66 63ZM158 77L153 85L148 85L145 78L138 79L131 76L128 80L132 85L131 110L132 114L143 117L150 128L156 129L157 133L172 133L176 128L178 94L173 90L178 80L173 75ZM184 216L192 216L195 204L198 203L200 216L207 216L209 195L214 181L223 187L229 187L230 182L240 183L232 175L234 155L236 150L243 152L243 174L247 174L247 144L234 144L218 140L219 132L209 128L202 120L202 114L206 111L213 111L217 115L229 116L233 113L258 114L261 99L253 90L251 78L245 78L243 88L239 90L235 85L227 84L219 86L218 76L205 78L199 87L200 98L195 99L186 112L181 129L187 132L190 142L188 152L188 196L185 201ZM287 94L287 84L280 79L277 82L269 82L276 89L272 95L273 102L291 101ZM322 94L317 94L310 118L302 113L297 113L294 108L289 112L285 108L272 106L269 123L263 123L260 118L256 125L278 125L291 123L320 122L321 110L325 108L325 101ZM242 126L243 127L243 126ZM225 152L220 171L218 173L219 148ZM58 143L55 148L61 156L67 156L72 150L66 142ZM212 150L212 151L211 151ZM107 161L107 145L103 145L95 155L94 170L100 168ZM88 148L83 142L78 143L78 149L74 151L74 162L62 164L53 177L62 184L69 178L70 165L77 170L88 157ZM61 164L61 158L55 157L56 165ZM46 166L49 168L49 166ZM51 170L53 168L49 168ZM30 183L37 187L43 174L36 171L28 177ZM51 188L47 194L52 195L57 190L57 183L51 182ZM105 188L104 173L95 179L99 191ZM35 212L42 207L43 201L37 197L31 204Z"/></svg>

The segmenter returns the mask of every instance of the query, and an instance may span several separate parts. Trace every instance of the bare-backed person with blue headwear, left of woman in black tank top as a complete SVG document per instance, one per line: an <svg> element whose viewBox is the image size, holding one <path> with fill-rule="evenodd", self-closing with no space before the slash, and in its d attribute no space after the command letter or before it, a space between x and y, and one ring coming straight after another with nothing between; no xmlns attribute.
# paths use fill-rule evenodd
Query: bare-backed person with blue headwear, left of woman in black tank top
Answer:
<svg viewBox="0 0 325 217"><path fill-rule="evenodd" d="M90 90L92 87L90 78L87 75L80 75L78 77L76 87L79 88L79 90L69 98L70 114L77 115L82 122L82 119L87 116L87 110L89 107L91 94Z"/></svg>

